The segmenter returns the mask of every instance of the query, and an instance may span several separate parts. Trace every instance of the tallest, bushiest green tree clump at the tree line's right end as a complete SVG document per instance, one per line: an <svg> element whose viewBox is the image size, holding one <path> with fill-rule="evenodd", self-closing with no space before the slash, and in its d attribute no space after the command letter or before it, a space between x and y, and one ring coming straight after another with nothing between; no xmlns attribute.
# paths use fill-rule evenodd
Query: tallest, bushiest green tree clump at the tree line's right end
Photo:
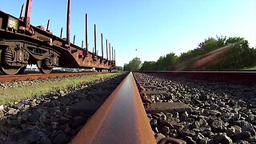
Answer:
<svg viewBox="0 0 256 144"><path fill-rule="evenodd" d="M222 51L213 54L216 51ZM256 51L250 48L248 42L240 37L208 38L199 43L198 48L181 54L178 58L179 70L193 70L195 62L207 57L211 60L203 62L201 70L232 70L255 66ZM213 56L214 55L214 56Z"/></svg>

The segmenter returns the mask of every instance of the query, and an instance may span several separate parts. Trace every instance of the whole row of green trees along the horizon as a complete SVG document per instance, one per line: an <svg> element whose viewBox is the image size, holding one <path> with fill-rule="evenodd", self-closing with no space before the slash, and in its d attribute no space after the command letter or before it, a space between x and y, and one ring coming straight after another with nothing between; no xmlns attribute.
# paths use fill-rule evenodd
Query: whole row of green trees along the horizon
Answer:
<svg viewBox="0 0 256 144"><path fill-rule="evenodd" d="M238 70L256 66L256 50L240 37L207 38L180 56L171 52L158 60L134 58L124 70Z"/></svg>

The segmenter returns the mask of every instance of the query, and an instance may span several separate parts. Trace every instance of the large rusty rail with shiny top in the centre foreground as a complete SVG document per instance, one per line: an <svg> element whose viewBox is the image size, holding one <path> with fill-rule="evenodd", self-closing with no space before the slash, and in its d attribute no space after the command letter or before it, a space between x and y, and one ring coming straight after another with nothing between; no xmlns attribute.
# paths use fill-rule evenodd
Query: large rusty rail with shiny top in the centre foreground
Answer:
<svg viewBox="0 0 256 144"><path fill-rule="evenodd" d="M71 143L156 143L132 73Z"/></svg>

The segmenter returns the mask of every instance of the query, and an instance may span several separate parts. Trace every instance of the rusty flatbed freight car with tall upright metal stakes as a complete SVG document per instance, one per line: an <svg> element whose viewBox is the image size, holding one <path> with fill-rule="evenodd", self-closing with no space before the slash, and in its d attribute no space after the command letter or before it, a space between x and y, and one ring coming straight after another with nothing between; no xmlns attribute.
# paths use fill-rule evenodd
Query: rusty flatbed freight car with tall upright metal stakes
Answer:
<svg viewBox="0 0 256 144"><path fill-rule="evenodd" d="M59 37L52 34L49 30L50 21L47 23L46 30L43 26L32 26L30 24L31 7L32 0L27 0L25 16L22 17L22 6L20 18L15 18L0 10L0 70L2 74L22 74L29 64L37 65L43 74L49 74L54 67L95 67L98 71L114 68L115 53L113 47L112 50L110 49L110 43L107 43L107 40L106 58L103 58L103 40L102 56L97 54L96 25L94 25L94 52L88 50L87 14L85 48L74 45L74 42L70 43L70 0L67 6L66 38L62 38L62 30Z"/></svg>

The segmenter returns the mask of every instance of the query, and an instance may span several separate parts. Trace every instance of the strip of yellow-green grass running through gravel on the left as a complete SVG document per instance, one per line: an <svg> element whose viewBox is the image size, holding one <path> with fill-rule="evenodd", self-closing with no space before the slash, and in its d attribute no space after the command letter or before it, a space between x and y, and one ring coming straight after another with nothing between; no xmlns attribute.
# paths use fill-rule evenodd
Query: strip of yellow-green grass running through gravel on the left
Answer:
<svg viewBox="0 0 256 144"><path fill-rule="evenodd" d="M92 82L99 78L109 78L112 75L114 75L114 73L93 74L77 78L67 78L56 82L40 82L36 85L0 89L0 104L19 102L23 99L33 98L34 96L40 96L57 90L64 90L70 86L78 86L84 82Z"/></svg>

